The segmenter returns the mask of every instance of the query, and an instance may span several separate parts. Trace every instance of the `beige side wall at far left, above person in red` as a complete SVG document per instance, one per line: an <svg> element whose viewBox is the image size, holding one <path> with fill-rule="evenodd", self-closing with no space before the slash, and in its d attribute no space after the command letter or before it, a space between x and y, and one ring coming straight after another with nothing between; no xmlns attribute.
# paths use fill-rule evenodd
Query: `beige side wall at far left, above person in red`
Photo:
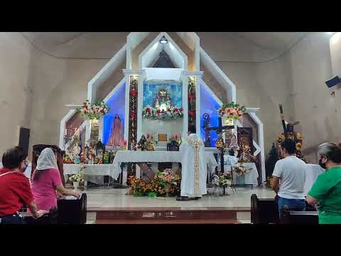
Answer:
<svg viewBox="0 0 341 256"><path fill-rule="evenodd" d="M0 156L18 144L17 126L30 124L32 50L20 34L0 33Z"/></svg>

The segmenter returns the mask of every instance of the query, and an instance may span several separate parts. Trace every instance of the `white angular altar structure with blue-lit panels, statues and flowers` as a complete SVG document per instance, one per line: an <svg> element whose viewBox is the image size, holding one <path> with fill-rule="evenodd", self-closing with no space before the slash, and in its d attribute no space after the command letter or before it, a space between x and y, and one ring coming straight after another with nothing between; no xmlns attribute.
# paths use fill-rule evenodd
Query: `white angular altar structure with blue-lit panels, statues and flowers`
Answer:
<svg viewBox="0 0 341 256"><path fill-rule="evenodd" d="M202 53L200 41L192 42L193 53L184 52L183 46L178 46L172 36L162 32L152 42L144 42L145 48L135 52L134 48L144 41L144 37L135 36L127 37L129 47L122 48L90 80L86 102L66 105L70 110L60 122L60 149L70 155L70 162L112 163L102 171L100 169L104 167L99 166L85 169L85 174L92 178L105 173L117 179L122 171L121 163L171 162L176 169L181 156L169 150L169 144L176 142L179 146L181 139L174 140L173 137L185 137L188 128L194 126L195 134L205 142L207 170L209 174L214 173L217 161L212 152L217 151L217 133L206 128L217 126L221 114L217 110L223 102L237 102L235 85L206 53ZM185 44L190 38L196 38L192 36L184 41ZM137 38L141 41L137 42ZM126 63L121 70L123 74L118 70L121 63ZM200 70L200 63L211 70L224 90L207 80L209 77ZM115 77L115 84L107 82L111 76ZM252 149L252 156L259 162L258 173L253 175L259 175L262 183L265 181L264 134L257 111L259 109L245 109L243 118L233 123L233 133L237 144L248 144ZM146 145L155 151L141 149L143 137L147 139ZM148 138L151 139L148 141ZM96 146L99 142L104 144L102 152ZM157 147L168 151L159 151ZM104 156L106 152L109 156ZM66 166L65 169L73 174L77 167ZM135 168L134 165L133 172L135 169L139 176L139 166ZM126 171L123 171L123 179L124 175ZM255 177L252 180L255 183Z"/></svg>

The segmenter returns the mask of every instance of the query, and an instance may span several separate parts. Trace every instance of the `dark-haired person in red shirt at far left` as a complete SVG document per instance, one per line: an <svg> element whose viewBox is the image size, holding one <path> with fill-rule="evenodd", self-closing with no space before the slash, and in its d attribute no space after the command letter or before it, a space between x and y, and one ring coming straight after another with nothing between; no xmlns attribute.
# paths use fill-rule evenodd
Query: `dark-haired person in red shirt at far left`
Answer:
<svg viewBox="0 0 341 256"><path fill-rule="evenodd" d="M27 206L33 218L46 212L38 210L31 191L31 184L23 174L28 166L27 154L21 147L8 149L2 156L4 168L0 169L0 224L24 224L18 213Z"/></svg>

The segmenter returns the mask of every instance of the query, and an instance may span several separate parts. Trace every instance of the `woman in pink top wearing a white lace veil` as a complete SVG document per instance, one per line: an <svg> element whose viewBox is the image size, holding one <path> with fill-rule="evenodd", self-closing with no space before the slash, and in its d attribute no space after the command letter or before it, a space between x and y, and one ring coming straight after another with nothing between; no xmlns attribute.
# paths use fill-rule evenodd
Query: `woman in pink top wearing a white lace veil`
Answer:
<svg viewBox="0 0 341 256"><path fill-rule="evenodd" d="M80 193L64 188L55 153L52 149L46 148L38 157L37 168L32 178L32 193L38 208L41 210L57 208L56 191L64 196L80 197Z"/></svg>

